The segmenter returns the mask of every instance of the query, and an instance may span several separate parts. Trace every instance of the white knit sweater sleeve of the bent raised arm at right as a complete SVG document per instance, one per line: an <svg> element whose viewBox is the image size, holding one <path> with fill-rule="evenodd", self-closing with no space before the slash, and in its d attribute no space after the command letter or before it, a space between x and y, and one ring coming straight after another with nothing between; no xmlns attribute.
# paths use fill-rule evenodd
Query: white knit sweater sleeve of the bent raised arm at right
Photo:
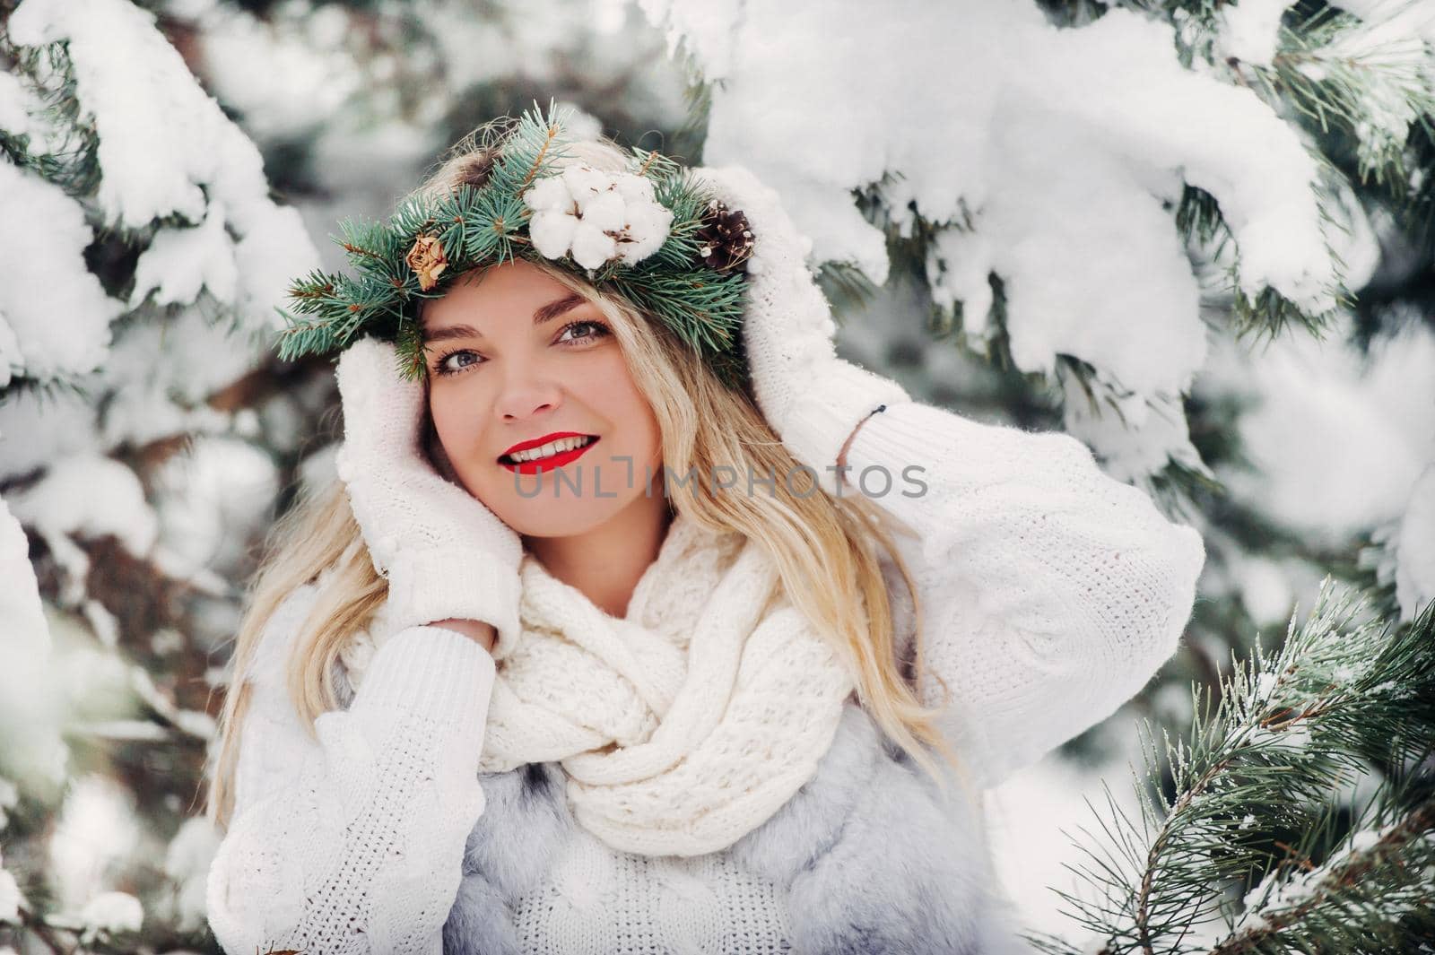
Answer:
<svg viewBox="0 0 1435 955"><path fill-rule="evenodd" d="M841 427L845 423L834 422ZM1201 535L1108 476L1062 432L983 424L916 402L857 430L845 479L918 533L924 703L994 786L1111 716L1177 651ZM904 476L904 469L913 470ZM920 470L918 470L920 467ZM920 482L920 483L918 483ZM921 490L926 485L926 490Z"/></svg>

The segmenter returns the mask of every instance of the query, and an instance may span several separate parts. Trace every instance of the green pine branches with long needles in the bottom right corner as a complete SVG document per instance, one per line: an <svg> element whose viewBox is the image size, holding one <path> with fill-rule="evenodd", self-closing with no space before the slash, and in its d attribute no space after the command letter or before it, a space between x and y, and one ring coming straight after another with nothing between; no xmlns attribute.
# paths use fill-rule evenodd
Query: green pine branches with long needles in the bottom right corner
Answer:
<svg viewBox="0 0 1435 955"><path fill-rule="evenodd" d="M1052 955L1386 952L1435 946L1435 601L1412 621L1322 584L1273 652L1258 644L1161 746L1141 817L1108 799L1083 830L1091 939Z"/></svg>

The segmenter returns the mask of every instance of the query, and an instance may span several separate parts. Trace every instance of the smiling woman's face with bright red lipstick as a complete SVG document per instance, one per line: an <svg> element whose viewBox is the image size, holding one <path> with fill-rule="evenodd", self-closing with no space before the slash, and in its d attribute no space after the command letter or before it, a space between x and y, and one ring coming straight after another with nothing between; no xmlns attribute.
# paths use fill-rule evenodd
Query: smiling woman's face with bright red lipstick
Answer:
<svg viewBox="0 0 1435 955"><path fill-rule="evenodd" d="M644 498L662 469L657 419L597 305L512 260L428 303L423 336L443 453L504 523L568 536ZM575 442L555 434L587 445L563 450Z"/></svg>

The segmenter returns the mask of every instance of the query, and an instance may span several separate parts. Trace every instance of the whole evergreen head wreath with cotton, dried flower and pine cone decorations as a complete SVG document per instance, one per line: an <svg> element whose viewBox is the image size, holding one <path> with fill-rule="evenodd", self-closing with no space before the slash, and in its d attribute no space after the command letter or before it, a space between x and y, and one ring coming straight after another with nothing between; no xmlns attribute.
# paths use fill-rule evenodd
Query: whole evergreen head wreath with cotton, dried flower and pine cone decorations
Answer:
<svg viewBox="0 0 1435 955"><path fill-rule="evenodd" d="M393 341L400 373L426 373L418 308L471 268L518 257L557 262L672 328L728 387L748 379L742 347L753 235L676 161L633 148L626 172L565 158L568 113L538 103L505 135L482 186L403 201L386 222L346 218L356 274L311 271L290 284L278 356L342 351L359 333Z"/></svg>

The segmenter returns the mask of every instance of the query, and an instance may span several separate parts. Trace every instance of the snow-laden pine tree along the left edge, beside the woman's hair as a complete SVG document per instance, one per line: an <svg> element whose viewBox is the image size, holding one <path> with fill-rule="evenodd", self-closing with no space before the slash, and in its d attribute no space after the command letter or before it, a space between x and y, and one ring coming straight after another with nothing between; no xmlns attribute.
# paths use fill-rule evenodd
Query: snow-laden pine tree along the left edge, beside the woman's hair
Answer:
<svg viewBox="0 0 1435 955"><path fill-rule="evenodd" d="M0 62L0 939L174 946L215 609L276 493L243 381L317 252L152 13L4 3Z"/></svg>

